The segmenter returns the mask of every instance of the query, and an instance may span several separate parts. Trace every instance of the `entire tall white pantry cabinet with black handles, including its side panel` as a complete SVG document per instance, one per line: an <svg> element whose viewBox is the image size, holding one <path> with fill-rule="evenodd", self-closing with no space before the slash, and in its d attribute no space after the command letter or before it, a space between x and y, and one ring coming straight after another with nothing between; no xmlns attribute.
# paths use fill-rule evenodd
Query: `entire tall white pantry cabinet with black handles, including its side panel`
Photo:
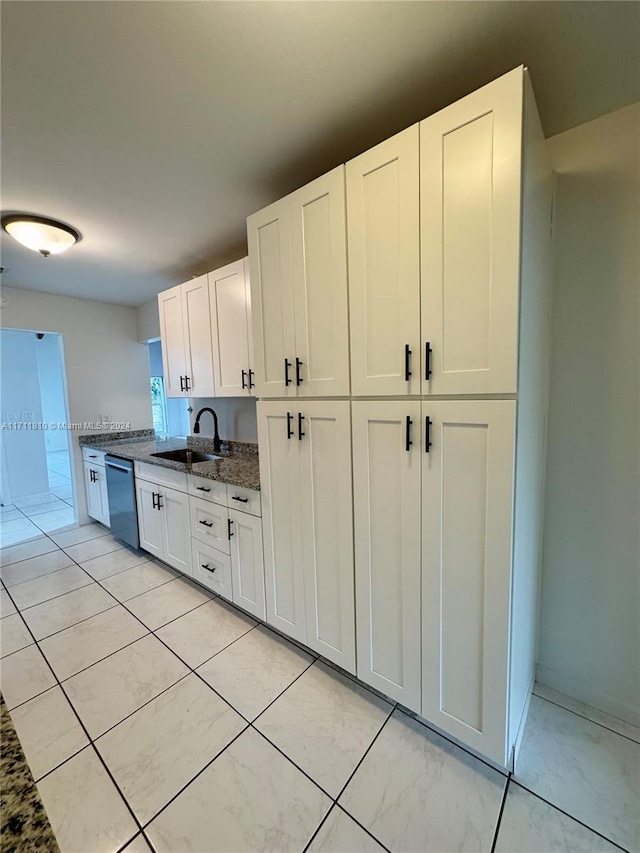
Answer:
<svg viewBox="0 0 640 853"><path fill-rule="evenodd" d="M248 220L268 621L502 766L533 686L550 219L521 67Z"/></svg>

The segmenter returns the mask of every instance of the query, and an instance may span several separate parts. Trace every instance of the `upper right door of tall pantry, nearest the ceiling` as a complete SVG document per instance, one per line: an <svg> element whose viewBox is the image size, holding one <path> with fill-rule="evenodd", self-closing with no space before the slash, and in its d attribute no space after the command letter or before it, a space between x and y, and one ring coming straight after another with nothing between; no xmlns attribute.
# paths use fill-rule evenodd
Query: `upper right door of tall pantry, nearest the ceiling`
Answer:
<svg viewBox="0 0 640 853"><path fill-rule="evenodd" d="M517 390L522 93L518 68L420 124L425 394Z"/></svg>

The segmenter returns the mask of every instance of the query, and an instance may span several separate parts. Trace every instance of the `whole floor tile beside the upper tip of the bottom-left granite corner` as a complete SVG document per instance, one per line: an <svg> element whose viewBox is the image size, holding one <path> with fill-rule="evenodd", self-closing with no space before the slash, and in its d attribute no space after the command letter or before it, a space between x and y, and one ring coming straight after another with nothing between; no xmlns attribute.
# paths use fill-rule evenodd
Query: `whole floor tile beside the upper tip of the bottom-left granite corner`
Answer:
<svg viewBox="0 0 640 853"><path fill-rule="evenodd" d="M89 743L59 687L15 708L11 719L36 780Z"/></svg>

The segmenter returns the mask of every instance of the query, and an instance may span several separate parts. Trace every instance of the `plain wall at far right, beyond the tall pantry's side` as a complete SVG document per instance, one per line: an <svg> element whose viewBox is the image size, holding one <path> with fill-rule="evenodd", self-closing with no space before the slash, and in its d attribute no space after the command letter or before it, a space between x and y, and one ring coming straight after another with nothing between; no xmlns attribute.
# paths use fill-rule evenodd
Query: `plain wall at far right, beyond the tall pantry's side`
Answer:
<svg viewBox="0 0 640 853"><path fill-rule="evenodd" d="M538 679L640 724L640 103L557 171Z"/></svg>

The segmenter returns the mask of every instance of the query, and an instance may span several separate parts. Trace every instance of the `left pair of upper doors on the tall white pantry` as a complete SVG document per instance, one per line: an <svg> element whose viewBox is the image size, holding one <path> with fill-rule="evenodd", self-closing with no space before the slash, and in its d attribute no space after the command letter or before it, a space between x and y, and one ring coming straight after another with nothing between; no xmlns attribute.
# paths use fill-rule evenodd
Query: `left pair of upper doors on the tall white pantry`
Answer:
<svg viewBox="0 0 640 853"><path fill-rule="evenodd" d="M349 394L344 166L247 219L259 397Z"/></svg>

